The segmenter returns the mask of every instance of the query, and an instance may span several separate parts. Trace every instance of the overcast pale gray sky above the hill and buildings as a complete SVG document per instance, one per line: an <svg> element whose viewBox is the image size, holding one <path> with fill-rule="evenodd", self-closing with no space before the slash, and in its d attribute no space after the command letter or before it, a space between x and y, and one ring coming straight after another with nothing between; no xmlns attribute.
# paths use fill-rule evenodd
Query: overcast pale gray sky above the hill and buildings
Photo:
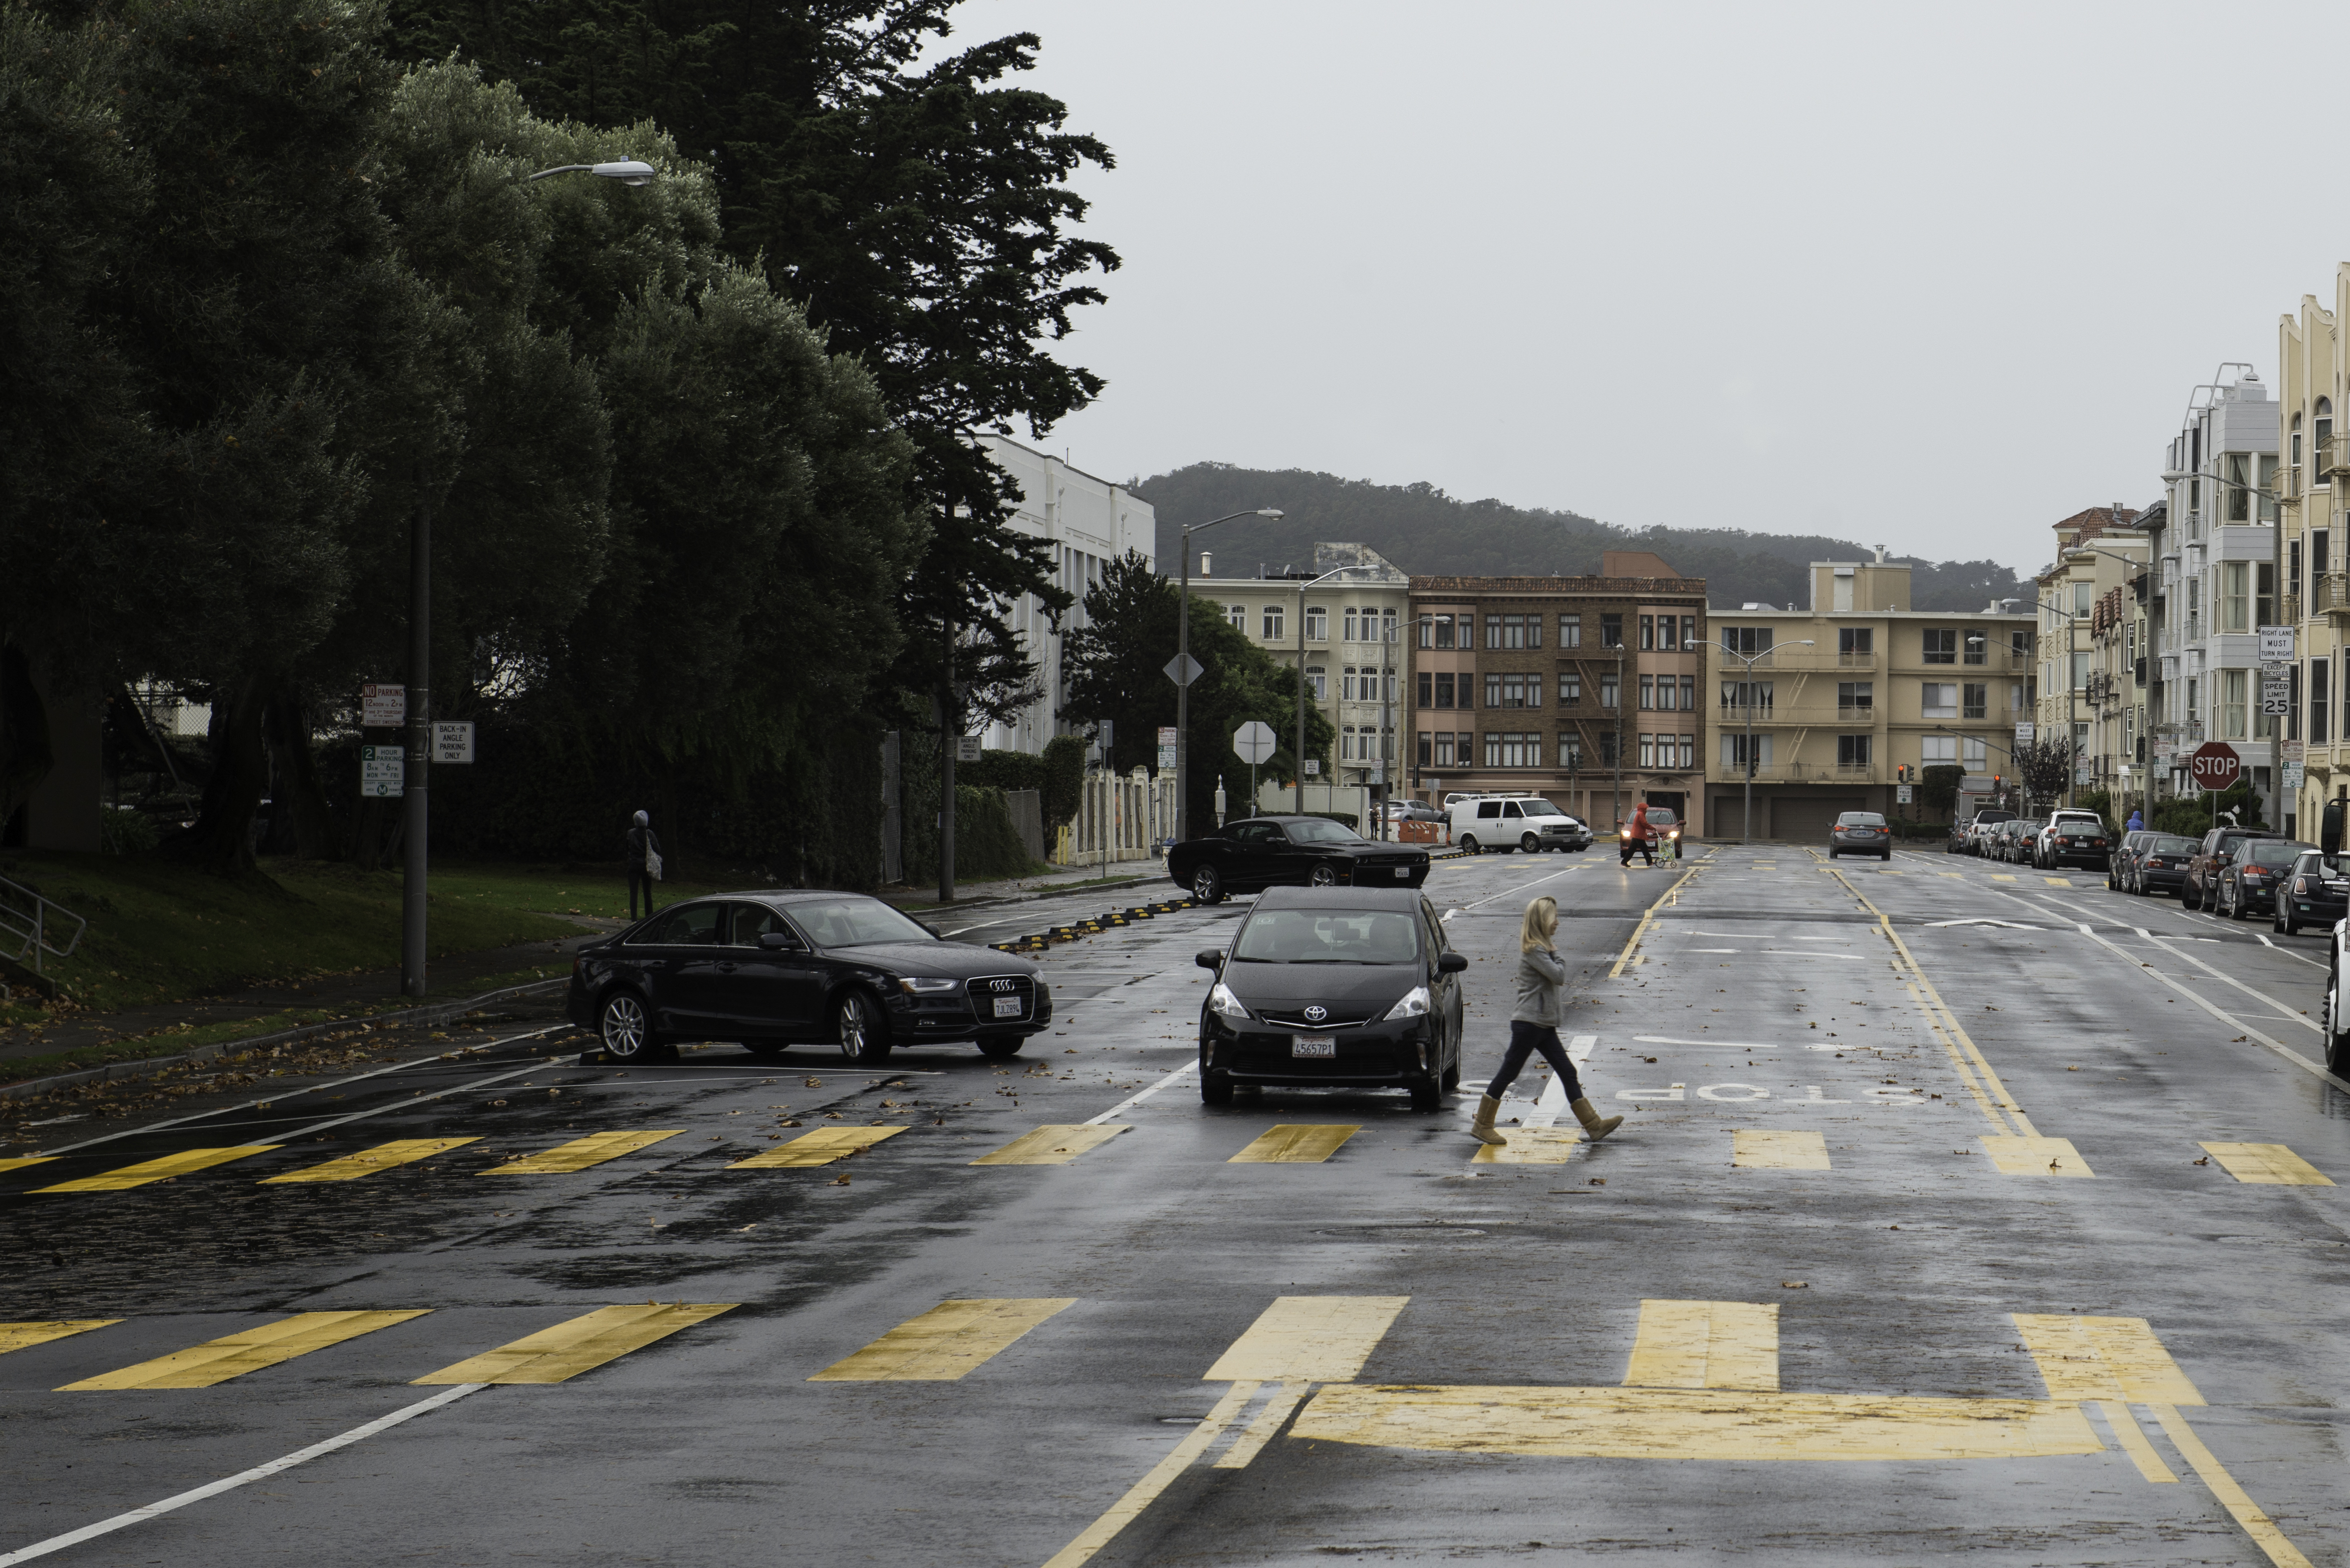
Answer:
<svg viewBox="0 0 2350 1568"><path fill-rule="evenodd" d="M2049 555L2331 303L2338 9L971 0L1119 158L1046 444ZM2298 61L2298 63L2296 63Z"/></svg>

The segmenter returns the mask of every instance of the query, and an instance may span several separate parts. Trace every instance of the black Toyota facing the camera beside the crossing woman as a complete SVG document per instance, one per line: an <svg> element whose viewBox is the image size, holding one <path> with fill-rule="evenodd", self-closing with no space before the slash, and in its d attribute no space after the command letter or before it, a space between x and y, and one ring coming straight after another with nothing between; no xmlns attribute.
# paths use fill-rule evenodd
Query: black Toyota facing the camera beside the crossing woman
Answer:
<svg viewBox="0 0 2350 1568"><path fill-rule="evenodd" d="M1198 1098L1236 1084L1394 1086L1436 1110L1462 1081L1462 985L1426 898L1274 889L1231 938L1198 1013Z"/></svg>

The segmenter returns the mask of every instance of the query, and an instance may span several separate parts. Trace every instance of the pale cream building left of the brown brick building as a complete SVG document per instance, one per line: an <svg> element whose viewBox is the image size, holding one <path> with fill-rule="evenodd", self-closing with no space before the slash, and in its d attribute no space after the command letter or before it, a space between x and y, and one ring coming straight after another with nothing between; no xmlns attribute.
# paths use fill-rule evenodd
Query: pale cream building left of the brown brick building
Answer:
<svg viewBox="0 0 2350 1568"><path fill-rule="evenodd" d="M1213 567L1215 552L1203 552L1191 595L1222 604L1276 663L1304 663L1307 701L1337 731L1335 773L1321 783L1377 799L1403 724L1410 576L1361 543L1316 543L1311 569L1260 567L1255 578L1220 578Z"/></svg>

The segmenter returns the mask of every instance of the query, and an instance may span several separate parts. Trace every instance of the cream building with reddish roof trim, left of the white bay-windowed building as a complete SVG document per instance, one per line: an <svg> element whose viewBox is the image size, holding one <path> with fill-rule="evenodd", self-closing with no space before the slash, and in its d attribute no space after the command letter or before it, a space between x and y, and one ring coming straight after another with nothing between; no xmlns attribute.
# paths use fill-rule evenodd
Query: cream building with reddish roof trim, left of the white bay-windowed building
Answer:
<svg viewBox="0 0 2350 1568"><path fill-rule="evenodd" d="M2138 679L2138 585L2153 545L2127 505L2092 505L2052 524L2056 559L2033 578L2040 623L2042 738L2073 736L2073 788L2129 792L2146 726Z"/></svg>

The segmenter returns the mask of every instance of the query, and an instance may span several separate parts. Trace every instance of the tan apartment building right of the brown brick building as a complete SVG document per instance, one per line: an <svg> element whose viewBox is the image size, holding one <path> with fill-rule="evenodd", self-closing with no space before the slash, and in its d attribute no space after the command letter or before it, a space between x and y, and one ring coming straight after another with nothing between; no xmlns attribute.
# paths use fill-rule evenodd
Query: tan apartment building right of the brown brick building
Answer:
<svg viewBox="0 0 2350 1568"><path fill-rule="evenodd" d="M1882 557L1812 562L1807 609L1746 604L1713 623L1713 837L1826 842L1842 811L1896 816L1904 766L1960 766L1988 788L2030 717L2033 616L1913 611L1911 569Z"/></svg>

